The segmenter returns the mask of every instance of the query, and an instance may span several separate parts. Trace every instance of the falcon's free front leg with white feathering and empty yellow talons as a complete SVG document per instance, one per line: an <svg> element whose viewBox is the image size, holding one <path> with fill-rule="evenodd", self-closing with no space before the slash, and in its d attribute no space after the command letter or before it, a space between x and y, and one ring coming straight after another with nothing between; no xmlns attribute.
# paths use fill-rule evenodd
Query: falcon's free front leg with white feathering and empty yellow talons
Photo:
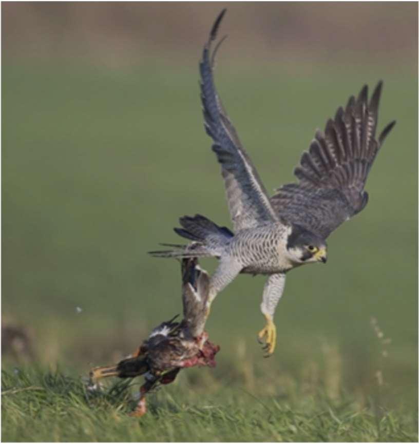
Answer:
<svg viewBox="0 0 420 444"><path fill-rule="evenodd" d="M276 348L276 326L273 322L274 312L278 301L283 294L284 282L286 276L284 273L278 273L271 275L265 285L262 294L261 312L265 317L265 327L258 333L259 342L265 342L263 350L267 352L265 357L269 357L273 354Z"/></svg>

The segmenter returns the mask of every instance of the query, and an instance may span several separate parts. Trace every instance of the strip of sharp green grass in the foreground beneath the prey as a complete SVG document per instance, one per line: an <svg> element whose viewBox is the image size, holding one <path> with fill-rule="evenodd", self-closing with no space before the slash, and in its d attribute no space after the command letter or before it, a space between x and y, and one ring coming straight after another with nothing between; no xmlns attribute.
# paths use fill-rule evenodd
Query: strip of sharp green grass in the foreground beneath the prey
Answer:
<svg viewBox="0 0 420 444"><path fill-rule="evenodd" d="M199 394L183 381L127 415L127 382L89 393L61 372L3 373L3 441L416 441L416 417L360 408L351 396L256 397L239 387ZM200 388L203 392L205 389Z"/></svg>

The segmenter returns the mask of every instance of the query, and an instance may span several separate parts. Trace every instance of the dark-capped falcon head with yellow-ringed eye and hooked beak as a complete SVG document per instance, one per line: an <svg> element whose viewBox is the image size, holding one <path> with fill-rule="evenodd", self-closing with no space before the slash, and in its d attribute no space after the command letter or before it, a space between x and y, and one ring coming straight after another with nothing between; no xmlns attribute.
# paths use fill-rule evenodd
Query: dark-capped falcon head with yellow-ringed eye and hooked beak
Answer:
<svg viewBox="0 0 420 444"><path fill-rule="evenodd" d="M327 262L327 242L299 225L293 225L286 247L295 264Z"/></svg>

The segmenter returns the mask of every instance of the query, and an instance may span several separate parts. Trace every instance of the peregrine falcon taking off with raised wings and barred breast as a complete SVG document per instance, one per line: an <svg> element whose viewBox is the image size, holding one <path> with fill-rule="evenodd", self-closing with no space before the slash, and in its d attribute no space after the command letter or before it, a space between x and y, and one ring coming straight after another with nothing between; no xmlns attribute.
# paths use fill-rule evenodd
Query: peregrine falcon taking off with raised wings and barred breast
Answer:
<svg viewBox="0 0 420 444"><path fill-rule="evenodd" d="M182 228L175 231L193 242L186 246L169 244L169 250L150 253L158 257L218 258L210 281L208 309L238 274L268 275L261 303L266 325L258 337L265 341L269 356L276 344L273 316L286 273L303 264L327 262L326 239L366 206L364 187L370 168L395 121L376 138L382 82L370 100L365 85L357 98L351 96L345 108L338 108L324 132L316 131L294 171L298 183L281 186L270 198L227 117L213 80L220 43L213 52L211 46L224 13L217 17L204 45L200 86L204 126L221 164L234 233L203 216L185 216L180 219Z"/></svg>

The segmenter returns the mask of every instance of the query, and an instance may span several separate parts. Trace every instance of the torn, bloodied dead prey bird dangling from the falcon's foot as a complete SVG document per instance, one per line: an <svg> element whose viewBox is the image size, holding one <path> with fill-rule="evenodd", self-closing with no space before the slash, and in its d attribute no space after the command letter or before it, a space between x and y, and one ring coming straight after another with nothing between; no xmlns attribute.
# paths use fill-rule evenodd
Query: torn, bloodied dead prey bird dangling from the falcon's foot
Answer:
<svg viewBox="0 0 420 444"><path fill-rule="evenodd" d="M146 394L158 384L173 382L181 369L196 365L214 367L218 345L208 340L204 331L207 319L209 277L197 258L182 260L183 319L175 318L158 325L135 353L117 365L96 367L90 371L89 388L97 388L98 380L108 376L133 378L144 375L140 399L132 416L146 413Z"/></svg>

